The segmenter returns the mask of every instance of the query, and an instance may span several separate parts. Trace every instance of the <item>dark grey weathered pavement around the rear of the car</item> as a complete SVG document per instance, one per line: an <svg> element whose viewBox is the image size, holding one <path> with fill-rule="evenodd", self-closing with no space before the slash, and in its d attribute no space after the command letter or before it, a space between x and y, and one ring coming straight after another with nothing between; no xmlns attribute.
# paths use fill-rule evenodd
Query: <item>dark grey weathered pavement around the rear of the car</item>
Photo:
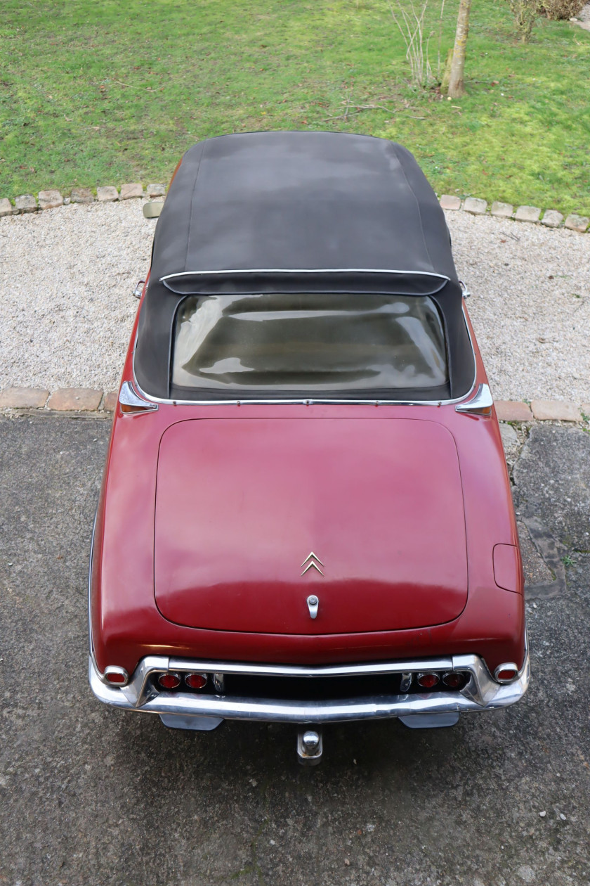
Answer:
<svg viewBox="0 0 590 886"><path fill-rule="evenodd" d="M536 426L514 443L519 518L539 520L564 570L561 593L533 589L527 607L525 700L448 730L331 727L307 770L291 727L184 734L91 696L88 545L109 431L0 418L0 883L590 880L587 433ZM524 548L547 585L539 548Z"/></svg>

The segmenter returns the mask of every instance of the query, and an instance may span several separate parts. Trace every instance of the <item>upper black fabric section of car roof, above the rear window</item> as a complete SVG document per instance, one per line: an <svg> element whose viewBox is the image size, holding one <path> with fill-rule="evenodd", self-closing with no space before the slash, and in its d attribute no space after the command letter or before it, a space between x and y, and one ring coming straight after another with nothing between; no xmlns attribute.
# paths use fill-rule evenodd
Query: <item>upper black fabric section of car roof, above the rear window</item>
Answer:
<svg viewBox="0 0 590 886"><path fill-rule="evenodd" d="M419 291L456 278L444 214L410 152L333 132L219 136L184 155L153 276L186 292L198 277L254 271L423 277Z"/></svg>

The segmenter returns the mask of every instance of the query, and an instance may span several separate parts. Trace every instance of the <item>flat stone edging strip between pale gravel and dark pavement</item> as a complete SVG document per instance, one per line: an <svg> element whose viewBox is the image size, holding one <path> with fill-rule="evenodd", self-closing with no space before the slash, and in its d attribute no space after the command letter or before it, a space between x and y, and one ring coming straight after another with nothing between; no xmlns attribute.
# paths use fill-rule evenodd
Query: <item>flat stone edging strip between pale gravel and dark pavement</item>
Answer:
<svg viewBox="0 0 590 886"><path fill-rule="evenodd" d="M8 387L0 391L0 410L39 409L43 412L113 412L117 405L117 391L98 391L95 388ZM495 411L501 422L590 422L590 403L571 403L566 400L496 400Z"/></svg>

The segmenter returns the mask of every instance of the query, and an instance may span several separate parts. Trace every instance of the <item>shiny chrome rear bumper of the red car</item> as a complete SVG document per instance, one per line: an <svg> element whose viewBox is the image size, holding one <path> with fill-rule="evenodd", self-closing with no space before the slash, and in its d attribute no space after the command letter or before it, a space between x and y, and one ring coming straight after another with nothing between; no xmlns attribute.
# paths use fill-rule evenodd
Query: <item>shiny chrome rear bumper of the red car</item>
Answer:
<svg viewBox="0 0 590 886"><path fill-rule="evenodd" d="M221 672L272 677L365 676L417 671L462 671L469 680L461 690L424 692L416 695L362 696L337 701L287 701L234 696L198 696L188 692L157 691L150 677L163 671ZM530 680L528 649L517 679L510 684L496 682L479 656L449 656L417 661L322 665L240 664L175 659L164 656L142 658L126 687L115 688L104 682L93 657L88 659L88 679L96 698L126 711L178 714L185 717L258 720L275 723L339 723L347 720L389 719L413 714L463 713L505 708L519 701Z"/></svg>

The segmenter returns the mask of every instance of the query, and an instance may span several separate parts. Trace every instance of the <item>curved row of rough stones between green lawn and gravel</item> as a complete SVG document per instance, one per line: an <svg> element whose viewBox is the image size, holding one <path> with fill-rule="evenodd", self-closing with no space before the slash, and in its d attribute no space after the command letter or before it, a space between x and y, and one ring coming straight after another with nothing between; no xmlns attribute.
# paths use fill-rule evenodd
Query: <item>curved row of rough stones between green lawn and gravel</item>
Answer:
<svg viewBox="0 0 590 886"><path fill-rule="evenodd" d="M149 184L145 190L140 182L133 182L121 185L121 190L117 190L114 185L104 185L96 188L96 197L89 188L73 188L69 197L64 197L58 190L40 190L37 198L34 194L20 194L14 198L14 202L7 197L0 198L0 218L4 215L21 215L25 213L35 213L43 209L56 209L57 206L67 206L70 203L108 203L114 200L128 200L131 198L158 198L165 197L166 188L164 184ZM487 200L478 197L466 197L462 200L460 197L454 197L451 194L442 194L441 206L449 211L463 210L464 213L471 215L487 215ZM511 203L502 203L494 200L489 207L489 214L496 218L508 218L515 221L528 221L530 224L542 224L546 228L567 228L576 230L580 234L590 229L590 218L586 215L577 215L572 213L563 218L563 215L556 209L546 209L543 212L539 206L517 206L516 209Z"/></svg>

